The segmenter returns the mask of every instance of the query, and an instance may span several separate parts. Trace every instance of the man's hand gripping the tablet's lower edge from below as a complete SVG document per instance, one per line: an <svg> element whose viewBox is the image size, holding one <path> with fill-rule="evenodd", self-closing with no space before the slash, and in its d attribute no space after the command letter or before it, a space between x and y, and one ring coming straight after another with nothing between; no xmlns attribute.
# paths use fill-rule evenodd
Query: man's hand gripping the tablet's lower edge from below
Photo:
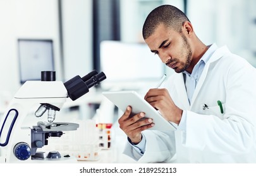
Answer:
<svg viewBox="0 0 256 176"><path fill-rule="evenodd" d="M154 126L152 119L145 118L145 113L138 113L131 116L131 107L126 108L125 113L118 119L119 127L125 132L134 144L142 140L142 131Z"/></svg>

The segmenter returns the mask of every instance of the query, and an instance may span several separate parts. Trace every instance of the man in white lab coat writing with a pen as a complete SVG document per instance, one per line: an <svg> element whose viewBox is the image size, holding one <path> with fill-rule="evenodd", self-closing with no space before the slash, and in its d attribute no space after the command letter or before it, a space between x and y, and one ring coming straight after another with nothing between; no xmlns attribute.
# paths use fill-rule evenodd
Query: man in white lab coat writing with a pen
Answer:
<svg viewBox="0 0 256 176"><path fill-rule="evenodd" d="M145 100L177 130L146 130L154 121L138 121L145 114L130 116L128 106L118 120L128 136L124 153L140 163L256 163L255 68L227 47L202 43L171 5L147 16L143 38L176 72Z"/></svg>

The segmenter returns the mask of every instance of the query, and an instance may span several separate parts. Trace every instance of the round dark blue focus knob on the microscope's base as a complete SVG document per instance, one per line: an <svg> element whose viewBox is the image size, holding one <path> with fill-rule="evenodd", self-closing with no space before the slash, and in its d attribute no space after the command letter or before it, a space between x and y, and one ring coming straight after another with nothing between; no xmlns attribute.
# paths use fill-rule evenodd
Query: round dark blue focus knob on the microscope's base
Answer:
<svg viewBox="0 0 256 176"><path fill-rule="evenodd" d="M19 160L27 160L31 156L31 148L27 143L17 143L13 148L13 153Z"/></svg>

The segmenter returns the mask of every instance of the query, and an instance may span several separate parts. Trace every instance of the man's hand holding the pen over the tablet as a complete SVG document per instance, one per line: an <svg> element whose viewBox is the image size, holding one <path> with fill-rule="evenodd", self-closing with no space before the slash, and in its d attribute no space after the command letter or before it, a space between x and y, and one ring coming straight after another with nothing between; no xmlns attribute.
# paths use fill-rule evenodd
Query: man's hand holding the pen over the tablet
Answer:
<svg viewBox="0 0 256 176"><path fill-rule="evenodd" d="M173 123L179 124L183 111L174 104L167 89L150 89L144 99L162 116Z"/></svg>

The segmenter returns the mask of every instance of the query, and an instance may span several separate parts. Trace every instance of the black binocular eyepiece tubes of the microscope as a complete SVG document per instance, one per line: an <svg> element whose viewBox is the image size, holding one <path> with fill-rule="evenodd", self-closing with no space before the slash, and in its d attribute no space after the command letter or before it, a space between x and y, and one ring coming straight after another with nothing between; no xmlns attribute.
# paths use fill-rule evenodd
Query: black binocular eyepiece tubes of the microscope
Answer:
<svg viewBox="0 0 256 176"><path fill-rule="evenodd" d="M98 85L104 79L106 79L106 75L103 72L98 74L96 70L93 70L83 78L76 75L67 82L64 82L64 86L68 91L68 96L70 99L75 101L79 97L89 92L90 87Z"/></svg>

